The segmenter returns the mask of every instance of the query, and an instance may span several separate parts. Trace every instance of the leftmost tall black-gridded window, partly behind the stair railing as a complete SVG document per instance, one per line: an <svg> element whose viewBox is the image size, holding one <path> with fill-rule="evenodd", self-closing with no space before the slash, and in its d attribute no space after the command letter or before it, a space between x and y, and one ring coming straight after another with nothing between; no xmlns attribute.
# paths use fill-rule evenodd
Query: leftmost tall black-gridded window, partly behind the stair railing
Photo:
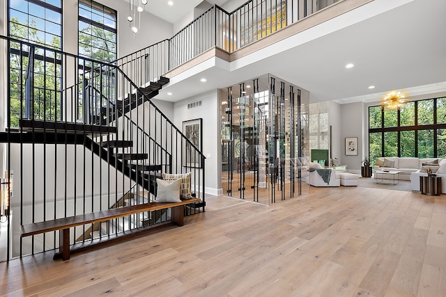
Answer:
<svg viewBox="0 0 446 297"><path fill-rule="evenodd" d="M30 116L36 120L60 120L61 59L52 49L61 50L61 0L14 0L8 3L10 37L38 45L34 67L30 70L34 74L33 114ZM19 42L11 42L10 47L10 126L18 127L25 108L24 81L30 48Z"/></svg>

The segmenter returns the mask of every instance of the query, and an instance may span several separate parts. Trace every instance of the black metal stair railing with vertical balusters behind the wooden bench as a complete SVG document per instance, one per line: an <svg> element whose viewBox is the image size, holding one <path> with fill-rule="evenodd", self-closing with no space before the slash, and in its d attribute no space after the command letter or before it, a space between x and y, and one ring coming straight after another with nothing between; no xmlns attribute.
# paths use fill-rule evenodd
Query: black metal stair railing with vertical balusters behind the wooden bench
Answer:
<svg viewBox="0 0 446 297"><path fill-rule="evenodd" d="M56 232L21 239L20 225L153 200L153 180L162 172L192 172L201 203L190 209L204 211L204 156L151 102L167 81L139 88L116 65L3 36L0 42L10 49L8 125L0 142L8 143L6 171L15 173L11 257L59 246ZM70 243L91 242L88 231L104 229L100 236L111 238L168 219L141 214L75 227Z"/></svg>

